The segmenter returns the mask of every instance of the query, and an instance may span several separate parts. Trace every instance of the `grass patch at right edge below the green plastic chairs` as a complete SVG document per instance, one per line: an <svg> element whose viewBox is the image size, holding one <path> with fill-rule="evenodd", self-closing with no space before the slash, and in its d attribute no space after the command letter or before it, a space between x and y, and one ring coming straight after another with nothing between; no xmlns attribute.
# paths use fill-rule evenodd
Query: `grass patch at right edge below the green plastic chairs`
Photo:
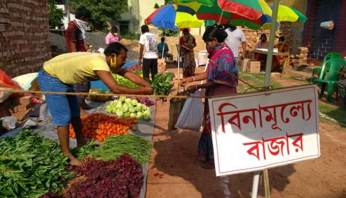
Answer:
<svg viewBox="0 0 346 198"><path fill-rule="evenodd" d="M319 111L330 118L336 120L340 126L346 127L346 110L332 104L319 102ZM323 120L323 119L321 119Z"/></svg>

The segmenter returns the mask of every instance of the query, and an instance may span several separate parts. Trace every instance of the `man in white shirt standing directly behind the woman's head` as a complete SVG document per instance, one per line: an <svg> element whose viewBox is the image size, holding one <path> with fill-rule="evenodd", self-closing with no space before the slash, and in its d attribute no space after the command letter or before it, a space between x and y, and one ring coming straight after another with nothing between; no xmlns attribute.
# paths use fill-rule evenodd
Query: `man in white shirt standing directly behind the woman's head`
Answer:
<svg viewBox="0 0 346 198"><path fill-rule="evenodd" d="M228 34L225 44L232 50L235 59L237 60L239 56L239 44L242 43L243 47L243 54L242 59L245 59L246 54L246 40L244 33L241 29L238 29L236 26L232 26L230 24L229 28L226 29L226 32Z"/></svg>

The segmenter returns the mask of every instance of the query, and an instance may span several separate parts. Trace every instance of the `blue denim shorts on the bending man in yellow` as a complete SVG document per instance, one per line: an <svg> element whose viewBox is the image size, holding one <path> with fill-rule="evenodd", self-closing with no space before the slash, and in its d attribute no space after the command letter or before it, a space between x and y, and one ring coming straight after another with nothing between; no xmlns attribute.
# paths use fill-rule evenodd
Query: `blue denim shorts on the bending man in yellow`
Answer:
<svg viewBox="0 0 346 198"><path fill-rule="evenodd" d="M40 90L43 92L75 92L72 85L67 85L59 79L50 76L43 69L38 76ZM81 110L76 96L67 95L45 95L53 126L68 126L71 117L79 117Z"/></svg>

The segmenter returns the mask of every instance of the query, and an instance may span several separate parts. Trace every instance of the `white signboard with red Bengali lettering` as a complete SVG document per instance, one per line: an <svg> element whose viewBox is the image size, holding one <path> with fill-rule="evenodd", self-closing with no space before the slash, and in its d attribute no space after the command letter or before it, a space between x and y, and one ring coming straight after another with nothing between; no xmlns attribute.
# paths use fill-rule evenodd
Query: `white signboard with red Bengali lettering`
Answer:
<svg viewBox="0 0 346 198"><path fill-rule="evenodd" d="M209 99L216 176L320 156L317 86Z"/></svg>

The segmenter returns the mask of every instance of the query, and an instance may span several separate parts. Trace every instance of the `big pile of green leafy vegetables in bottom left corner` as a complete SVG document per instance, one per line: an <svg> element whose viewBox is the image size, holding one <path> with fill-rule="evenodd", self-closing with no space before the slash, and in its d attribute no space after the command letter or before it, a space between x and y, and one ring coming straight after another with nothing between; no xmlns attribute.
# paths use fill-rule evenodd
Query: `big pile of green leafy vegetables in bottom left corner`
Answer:
<svg viewBox="0 0 346 198"><path fill-rule="evenodd" d="M0 197L37 198L60 192L63 181L72 176L65 169L67 159L57 142L31 130L0 139Z"/></svg>

